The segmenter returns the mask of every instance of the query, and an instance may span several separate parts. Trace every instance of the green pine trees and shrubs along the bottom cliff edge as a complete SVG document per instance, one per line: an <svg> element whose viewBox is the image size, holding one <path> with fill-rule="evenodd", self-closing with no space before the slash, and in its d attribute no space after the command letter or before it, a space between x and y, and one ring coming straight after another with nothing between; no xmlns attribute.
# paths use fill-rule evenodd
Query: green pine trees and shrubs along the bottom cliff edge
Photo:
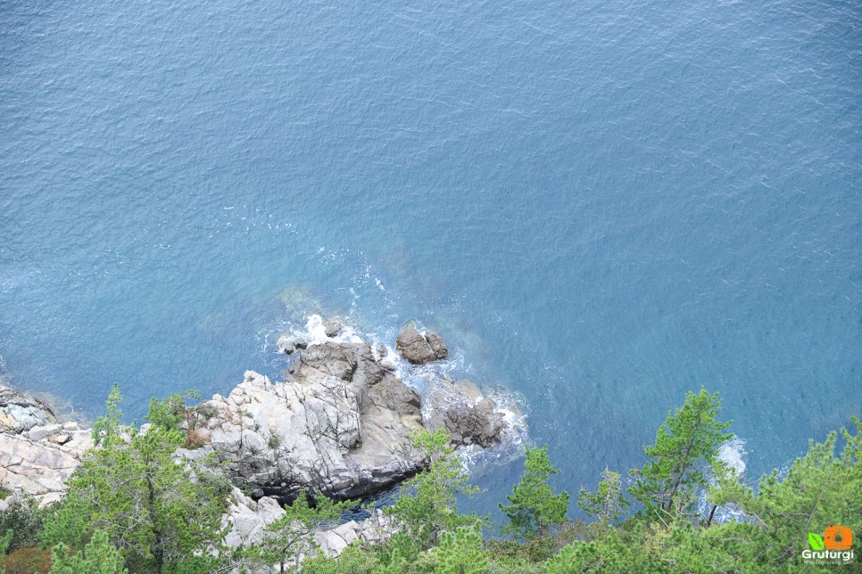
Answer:
<svg viewBox="0 0 862 574"><path fill-rule="evenodd" d="M336 522L352 504L308 493L269 525L261 544L229 548L221 516L230 485L215 461L175 455L188 439L183 398L153 401L145 431L122 425L119 405L115 389L95 426L99 447L71 477L62 502L46 510L15 503L0 512L0 550L7 554L0 570L821 571L831 565L803 556L808 533L841 524L862 535L862 422L853 418L854 429L811 441L789 470L751 486L718 458L732 436L730 423L719 420L717 395L700 389L667 415L644 447L649 460L642 468L627 477L606 469L594 490L579 490L589 521L566 518L569 495L551 485L557 471L547 447L527 449L521 480L509 504L501 504L507 524L496 529L488 517L459 513L456 497L477 488L445 431L424 431L416 446L430 465L386 509L397 526L385 542L357 541L337 557L316 553L314 529ZM703 496L708 504L699 512ZM716 521L719 507L735 518ZM857 566L858 554L851 559Z"/></svg>

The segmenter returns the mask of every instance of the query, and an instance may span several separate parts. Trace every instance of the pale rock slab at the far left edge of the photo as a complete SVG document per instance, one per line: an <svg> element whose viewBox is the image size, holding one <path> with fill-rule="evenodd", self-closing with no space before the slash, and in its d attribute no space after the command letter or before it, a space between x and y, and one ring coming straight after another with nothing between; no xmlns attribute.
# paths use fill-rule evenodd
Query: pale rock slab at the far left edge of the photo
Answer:
<svg viewBox="0 0 862 574"><path fill-rule="evenodd" d="M60 424L42 401L0 385L0 487L54 502L92 446L77 422Z"/></svg>

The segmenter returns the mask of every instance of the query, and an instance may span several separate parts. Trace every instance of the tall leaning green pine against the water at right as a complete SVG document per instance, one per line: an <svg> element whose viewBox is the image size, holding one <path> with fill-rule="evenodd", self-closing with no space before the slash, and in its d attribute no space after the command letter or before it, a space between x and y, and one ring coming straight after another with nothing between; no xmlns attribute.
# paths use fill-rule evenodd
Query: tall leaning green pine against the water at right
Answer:
<svg viewBox="0 0 862 574"><path fill-rule="evenodd" d="M659 427L655 444L643 447L651 461L631 471L637 480L629 494L648 508L675 518L692 504L694 490L707 486L703 470L717 461L718 447L733 434L722 432L730 422L718 422L721 400L700 388Z"/></svg>

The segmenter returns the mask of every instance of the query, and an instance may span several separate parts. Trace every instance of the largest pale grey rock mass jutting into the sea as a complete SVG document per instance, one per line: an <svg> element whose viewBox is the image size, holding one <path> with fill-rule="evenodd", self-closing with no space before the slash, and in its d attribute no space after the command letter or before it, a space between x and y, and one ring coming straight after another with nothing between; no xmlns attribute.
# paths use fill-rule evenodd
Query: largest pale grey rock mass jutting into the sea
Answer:
<svg viewBox="0 0 862 574"><path fill-rule="evenodd" d="M419 395L377 362L365 343L301 351L287 381L259 373L199 407L195 429L237 486L255 497L303 489L336 498L368 496L424 468L410 435L421 428Z"/></svg>

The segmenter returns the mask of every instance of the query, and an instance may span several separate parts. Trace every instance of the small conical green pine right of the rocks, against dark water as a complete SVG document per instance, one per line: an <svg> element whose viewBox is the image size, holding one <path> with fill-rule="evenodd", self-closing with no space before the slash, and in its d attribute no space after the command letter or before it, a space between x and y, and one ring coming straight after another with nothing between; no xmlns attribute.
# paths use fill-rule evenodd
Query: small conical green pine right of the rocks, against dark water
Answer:
<svg viewBox="0 0 862 574"><path fill-rule="evenodd" d="M510 521L501 528L502 533L532 538L541 530L566 520L568 492L555 495L548 484L551 475L558 473L551 466L547 445L526 449L521 481L512 488L512 494L506 496L511 504L500 504L500 510Z"/></svg>

